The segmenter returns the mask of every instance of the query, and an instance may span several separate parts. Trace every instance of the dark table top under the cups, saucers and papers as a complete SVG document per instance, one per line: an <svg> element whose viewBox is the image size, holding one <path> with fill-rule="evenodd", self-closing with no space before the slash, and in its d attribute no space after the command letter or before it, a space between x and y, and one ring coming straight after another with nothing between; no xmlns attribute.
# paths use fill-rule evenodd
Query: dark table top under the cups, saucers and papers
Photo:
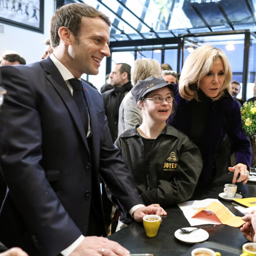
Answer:
<svg viewBox="0 0 256 256"><path fill-rule="evenodd" d="M215 198L222 202L234 215L243 216L234 208L230 201L221 199L218 194L223 192L224 184L232 183L233 174L227 173L213 181L207 188L194 193L190 200L203 200ZM238 191L243 197L254 197L256 195L256 183L238 184ZM194 244L187 244L174 237L176 230L189 227L190 224L184 217L183 212L177 205L165 208L167 216L162 218L162 224L156 237L147 237L142 223L132 223L126 228L113 233L108 238L117 241L127 248L131 253L152 253L154 256L180 256ZM216 225L207 228L209 238L207 241L218 242L223 245L242 248L247 242L239 228L227 225ZM238 254L237 254L238 255Z"/></svg>

